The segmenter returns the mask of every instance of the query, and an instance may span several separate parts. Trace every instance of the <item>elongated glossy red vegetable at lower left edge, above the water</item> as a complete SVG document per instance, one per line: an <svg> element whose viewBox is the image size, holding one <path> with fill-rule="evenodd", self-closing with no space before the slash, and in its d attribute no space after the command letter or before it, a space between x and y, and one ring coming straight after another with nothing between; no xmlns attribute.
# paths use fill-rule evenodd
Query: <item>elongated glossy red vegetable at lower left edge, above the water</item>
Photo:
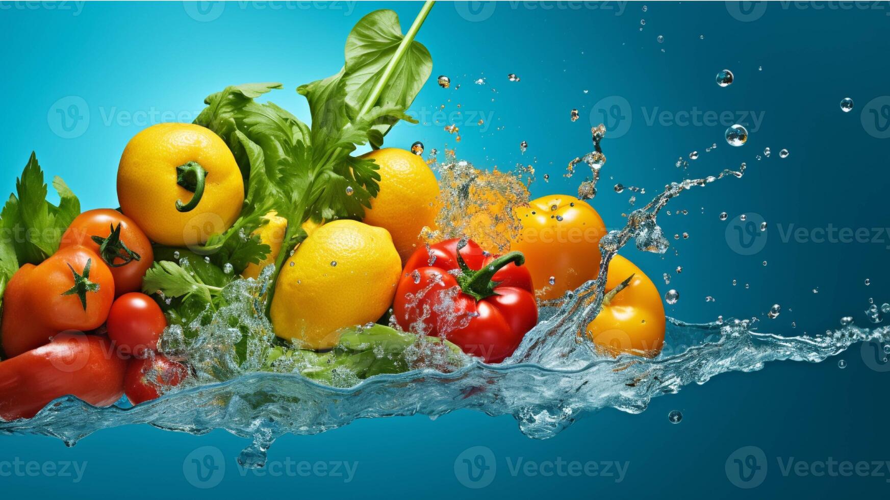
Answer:
<svg viewBox="0 0 890 500"><path fill-rule="evenodd" d="M0 418L30 418L71 394L107 407L124 394L126 360L108 339L62 333L52 343L0 362Z"/></svg>

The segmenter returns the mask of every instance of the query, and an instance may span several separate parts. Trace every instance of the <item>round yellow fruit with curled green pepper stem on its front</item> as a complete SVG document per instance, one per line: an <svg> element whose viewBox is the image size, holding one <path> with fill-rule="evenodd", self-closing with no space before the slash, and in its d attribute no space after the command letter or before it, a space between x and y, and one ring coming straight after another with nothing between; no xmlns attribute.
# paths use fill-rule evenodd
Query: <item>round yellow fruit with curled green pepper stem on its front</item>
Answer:
<svg viewBox="0 0 890 500"><path fill-rule="evenodd" d="M198 189L180 183L180 167L187 166L206 172L203 193L190 209ZM127 143L117 167L117 200L151 241L193 246L235 222L244 203L244 181L229 147L213 131L164 123L151 125Z"/></svg>

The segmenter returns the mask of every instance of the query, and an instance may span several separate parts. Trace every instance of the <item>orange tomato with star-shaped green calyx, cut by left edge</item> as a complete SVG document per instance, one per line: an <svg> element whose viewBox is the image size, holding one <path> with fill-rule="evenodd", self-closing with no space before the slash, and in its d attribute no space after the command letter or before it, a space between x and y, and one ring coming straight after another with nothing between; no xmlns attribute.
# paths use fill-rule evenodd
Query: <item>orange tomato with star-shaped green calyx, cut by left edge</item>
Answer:
<svg viewBox="0 0 890 500"><path fill-rule="evenodd" d="M22 266L6 286L0 339L12 358L66 330L101 327L114 300L114 279L98 254L62 248L40 265Z"/></svg>

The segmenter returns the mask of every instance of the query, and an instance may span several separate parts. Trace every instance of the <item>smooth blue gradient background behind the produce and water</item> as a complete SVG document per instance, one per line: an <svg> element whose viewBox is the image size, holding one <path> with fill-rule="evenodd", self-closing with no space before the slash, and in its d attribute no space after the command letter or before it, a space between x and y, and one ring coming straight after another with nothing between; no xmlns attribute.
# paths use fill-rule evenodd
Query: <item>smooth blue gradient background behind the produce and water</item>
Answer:
<svg viewBox="0 0 890 500"><path fill-rule="evenodd" d="M562 178L564 165L591 149L590 125L600 109L627 100L627 133L607 135L609 158L595 207L610 227L628 211L630 194L615 183L645 188L636 206L668 181L716 174L748 163L741 180L726 179L674 200L660 217L666 233L688 232L665 255L626 254L647 271L662 292L681 299L668 314L688 321L757 317L761 331L814 334L837 327L842 316L867 325L870 297L890 301L887 245L830 244L781 238L777 227L807 229L890 226L886 186L890 141L862 125L866 103L890 93L890 5L837 3L639 3L438 4L418 40L433 54L433 77L413 106L421 125L402 124L389 146L423 141L427 151L457 145L457 156L506 170L536 161L533 195L573 193L583 173ZM279 81L276 101L308 121L297 85L327 77L343 64L343 45L361 15L392 8L407 28L417 3L367 4L20 4L0 3L0 52L4 96L0 120L0 190L11 191L28 153L44 170L61 175L85 209L117 206L115 171L130 137L158 121L190 121L209 93L225 85ZM275 8L273 8L275 7ZM323 7L323 8L322 8ZM577 8L576 8L577 7ZM821 8L819 8L821 7ZM832 8L833 7L833 8ZM764 10L765 9L765 10ZM732 13L736 16L733 17ZM739 14L739 12L741 12ZM192 15L190 15L192 14ZM463 14L463 15L461 15ZM197 19L196 19L197 18ZM646 24L642 31L640 20ZM659 44L657 36L664 36ZM700 38L704 35L704 39ZM664 52L662 52L662 49ZM762 67L762 70L758 70ZM720 69L735 83L715 85ZM515 73L521 82L508 82ZM443 90L437 75L451 78ZM486 85L473 85L479 77ZM457 88L457 85L460 85ZM497 91L497 92L495 92ZM585 92L587 91L587 92ZM56 109L77 96L88 125L64 138ZM842 113L838 102L855 101ZM888 98L890 99L890 98ZM600 106L596 104L600 102ZM883 101L884 103L890 101ZM461 105L457 109L457 104ZM445 105L445 115L433 113ZM570 109L581 119L570 122ZM725 125L651 123L667 111L763 113L751 125L748 144L731 148ZM879 106L878 108L879 109ZM459 115L450 115L461 111ZM596 117L592 124L591 115ZM153 115L153 116L152 116ZM738 116L738 115L736 115ZM476 125L480 117L485 119ZM607 123L618 130L619 123ZM647 123L649 122L649 123ZM85 121L81 122L85 124ZM462 141L443 131L460 127ZM880 124L879 124L880 125ZM614 128L618 127L618 128ZM76 129L77 130L77 129ZM62 133L64 135L64 133ZM528 141L521 155L519 143ZM717 149L705 149L711 143ZM757 161L765 147L773 156ZM788 158L778 152L790 150ZM674 165L692 150L700 158L684 172ZM549 183L542 181L549 173ZM732 251L724 230L730 218L761 214L769 222L761 252ZM766 266L763 262L767 261ZM676 275L676 266L683 273ZM671 274L666 286L661 273ZM864 280L870 278L870 286ZM732 286L732 280L738 280ZM744 286L745 284L748 286ZM811 290L818 286L819 294ZM716 302L705 302L712 295ZM778 319L765 311L780 303ZM797 328L792 328L795 321ZM85 461L83 480L16 476L0 469L4 498L64 495L67 498L239 498L256 496L357 496L466 498L579 496L823 497L884 494L883 477L784 476L777 457L807 462L890 459L884 415L888 376L863 363L857 347L821 364L774 363L750 374L720 375L702 386L654 399L642 415L608 410L586 415L551 440L530 440L511 417L473 412L360 421L312 437L284 437L270 461L357 461L356 476L259 477L241 474L235 456L247 440L223 431L196 437L148 426L109 429L75 448L50 438L4 436L0 462ZM871 366L876 366L872 363ZM883 367L883 366L881 366ZM682 423L667 413L683 411ZM183 460L196 448L222 450L227 472L215 488L192 488ZM498 471L487 488L465 488L455 461L466 448L491 449ZM737 448L765 452L763 484L733 486L724 463ZM541 477L510 473L506 461L629 462L621 482L603 477ZM8 472L8 471L7 471Z"/></svg>

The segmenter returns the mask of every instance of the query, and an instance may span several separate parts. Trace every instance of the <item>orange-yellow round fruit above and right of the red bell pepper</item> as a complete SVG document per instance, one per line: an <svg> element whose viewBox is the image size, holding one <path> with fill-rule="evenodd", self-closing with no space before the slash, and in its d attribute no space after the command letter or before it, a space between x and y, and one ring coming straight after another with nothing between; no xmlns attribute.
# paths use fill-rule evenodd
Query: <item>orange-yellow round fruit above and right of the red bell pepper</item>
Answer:
<svg viewBox="0 0 890 500"><path fill-rule="evenodd" d="M525 255L538 298L559 298L596 278L606 226L594 207L572 196L554 195L538 198L515 214L522 232L510 249Z"/></svg>

